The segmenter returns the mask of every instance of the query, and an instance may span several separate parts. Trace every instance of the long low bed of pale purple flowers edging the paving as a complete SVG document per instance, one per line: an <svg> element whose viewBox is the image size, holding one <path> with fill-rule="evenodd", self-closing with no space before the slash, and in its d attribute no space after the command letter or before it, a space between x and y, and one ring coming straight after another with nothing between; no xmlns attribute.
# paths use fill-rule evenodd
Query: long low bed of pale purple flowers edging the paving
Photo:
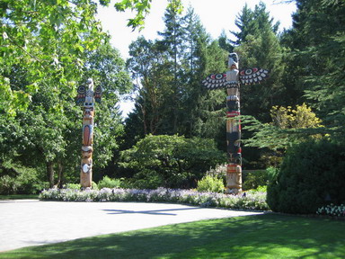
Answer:
<svg viewBox="0 0 345 259"><path fill-rule="evenodd" d="M237 210L269 210L265 192L229 195L216 192L197 192L158 188L156 190L110 189L73 190L49 189L40 193L40 200L48 201L142 201L173 202Z"/></svg>

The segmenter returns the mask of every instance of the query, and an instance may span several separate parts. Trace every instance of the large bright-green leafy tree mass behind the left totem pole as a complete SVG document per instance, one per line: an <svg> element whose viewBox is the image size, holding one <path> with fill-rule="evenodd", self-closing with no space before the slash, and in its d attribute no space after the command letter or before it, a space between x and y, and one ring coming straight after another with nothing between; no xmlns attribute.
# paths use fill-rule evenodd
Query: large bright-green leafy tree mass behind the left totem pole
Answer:
<svg viewBox="0 0 345 259"><path fill-rule="evenodd" d="M106 127L96 129L97 145L99 149L104 147L99 153L101 165L116 146L113 134L119 134L120 127L114 104L119 100L117 91L128 88L129 77L124 76L123 61L117 65L119 54L116 59L106 46L103 48L109 51L108 59L102 53L100 46L109 38L95 13L96 2L85 0L9 0L1 5L0 81L5 83L1 87L6 95L0 97L0 122L6 126L0 138L4 151L0 162L13 160L38 170L45 168L50 186L56 183L55 170L61 183L62 171L74 172L79 164L76 161L80 155L75 150L80 149L80 141L75 136L81 135L81 113L74 98L76 86L84 83L86 74L95 76L105 90L109 89L98 121ZM103 67L95 62L96 56L104 58ZM110 71L114 66L109 67L106 60L119 68ZM109 68L106 74L100 70L95 73L93 65L102 70ZM114 75L118 82L108 85L113 83ZM74 179L72 175L68 177Z"/></svg>

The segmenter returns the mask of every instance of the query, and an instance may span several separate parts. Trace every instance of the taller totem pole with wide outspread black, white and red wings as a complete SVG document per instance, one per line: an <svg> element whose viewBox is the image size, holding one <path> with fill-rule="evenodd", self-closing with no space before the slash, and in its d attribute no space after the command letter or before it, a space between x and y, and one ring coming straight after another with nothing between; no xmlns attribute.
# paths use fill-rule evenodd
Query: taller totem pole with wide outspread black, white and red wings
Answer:
<svg viewBox="0 0 345 259"><path fill-rule="evenodd" d="M226 192L242 191L242 155L241 155L241 121L240 85L260 84L269 75L269 71L258 67L238 68L239 58L236 53L229 54L229 70L223 74L212 74L202 81L208 89L226 88L226 144L227 169Z"/></svg>

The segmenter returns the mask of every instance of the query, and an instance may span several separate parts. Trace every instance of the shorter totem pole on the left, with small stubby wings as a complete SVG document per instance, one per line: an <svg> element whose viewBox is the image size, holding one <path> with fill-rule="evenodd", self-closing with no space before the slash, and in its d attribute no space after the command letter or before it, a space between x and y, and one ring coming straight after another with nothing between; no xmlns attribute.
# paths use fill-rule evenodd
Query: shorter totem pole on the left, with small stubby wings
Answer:
<svg viewBox="0 0 345 259"><path fill-rule="evenodd" d="M93 183L93 116L94 101L101 103L102 88L96 87L93 92L93 79L89 78L87 86L78 87L76 103L83 105L83 141L80 184L82 188L91 187Z"/></svg>

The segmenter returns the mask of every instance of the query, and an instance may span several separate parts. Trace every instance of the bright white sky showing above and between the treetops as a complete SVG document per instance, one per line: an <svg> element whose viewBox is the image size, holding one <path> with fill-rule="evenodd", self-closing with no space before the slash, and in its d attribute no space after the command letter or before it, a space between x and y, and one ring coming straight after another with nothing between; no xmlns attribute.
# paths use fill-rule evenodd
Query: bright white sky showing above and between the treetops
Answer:
<svg viewBox="0 0 345 259"><path fill-rule="evenodd" d="M119 2L119 1L116 1ZM229 31L237 31L234 25L236 16L241 13L244 4L252 10L256 4L263 2L266 4L266 10L274 22L280 22L279 29L288 29L292 25L291 14L296 11L296 4L279 4L282 0L181 0L185 10L191 6L194 12L199 15L199 19L206 31L213 39L217 39L222 31L226 32L228 38L231 37ZM115 3L113 1L113 3ZM146 16L145 29L142 31L132 31L127 27L129 18L134 16L130 10L127 12L116 12L115 8L99 7L98 18L102 22L104 31L111 34L111 45L119 49L121 57L128 58L129 44L137 40L137 37L143 35L147 40L159 39L157 31L164 31L164 11L167 0L153 0L150 13ZM133 103L123 101L120 103L120 110L126 117L133 108Z"/></svg>

